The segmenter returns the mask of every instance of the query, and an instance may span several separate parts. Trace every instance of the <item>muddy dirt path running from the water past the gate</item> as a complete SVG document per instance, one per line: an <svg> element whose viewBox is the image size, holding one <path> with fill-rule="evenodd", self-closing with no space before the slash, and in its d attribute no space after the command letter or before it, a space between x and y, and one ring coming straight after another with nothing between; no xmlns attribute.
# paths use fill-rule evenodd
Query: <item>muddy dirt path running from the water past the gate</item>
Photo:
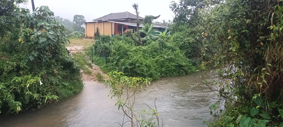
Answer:
<svg viewBox="0 0 283 127"><path fill-rule="evenodd" d="M83 40L78 40L78 39L72 39L70 40L70 45L68 45L66 48L68 50L83 50L85 47L88 45L92 44L93 39L83 39ZM83 70L81 70L81 75L82 75L82 80L83 81L98 81L99 79L97 78L97 73L100 73L103 78L105 78L106 74L100 70L100 67L95 64L91 64L92 67L89 67L88 65L83 65L86 66L87 69L91 73L85 73Z"/></svg>

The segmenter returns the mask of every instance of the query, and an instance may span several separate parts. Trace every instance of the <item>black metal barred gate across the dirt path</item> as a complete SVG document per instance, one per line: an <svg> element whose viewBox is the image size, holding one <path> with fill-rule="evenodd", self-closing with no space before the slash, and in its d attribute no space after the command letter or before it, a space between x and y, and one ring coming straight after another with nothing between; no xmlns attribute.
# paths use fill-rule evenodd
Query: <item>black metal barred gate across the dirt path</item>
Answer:
<svg viewBox="0 0 283 127"><path fill-rule="evenodd" d="M93 64L92 50L68 50L68 54L76 64Z"/></svg>

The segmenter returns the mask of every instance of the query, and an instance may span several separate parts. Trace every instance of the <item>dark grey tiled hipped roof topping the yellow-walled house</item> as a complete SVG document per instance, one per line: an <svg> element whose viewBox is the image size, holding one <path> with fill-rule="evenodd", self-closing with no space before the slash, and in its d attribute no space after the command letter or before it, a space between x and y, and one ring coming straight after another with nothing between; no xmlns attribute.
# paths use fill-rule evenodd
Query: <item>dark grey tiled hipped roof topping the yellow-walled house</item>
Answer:
<svg viewBox="0 0 283 127"><path fill-rule="evenodd" d="M108 15L99 17L97 19L93 19L93 21L111 20L111 19L127 19L127 18L137 19L137 15L132 14L130 12L110 13ZM144 19L144 18L139 16L139 19Z"/></svg>

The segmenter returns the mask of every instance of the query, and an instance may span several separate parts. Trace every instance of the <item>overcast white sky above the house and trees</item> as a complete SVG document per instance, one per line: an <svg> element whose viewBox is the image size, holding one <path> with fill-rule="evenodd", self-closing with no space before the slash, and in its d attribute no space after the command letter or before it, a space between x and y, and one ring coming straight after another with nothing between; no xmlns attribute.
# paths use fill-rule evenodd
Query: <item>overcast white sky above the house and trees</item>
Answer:
<svg viewBox="0 0 283 127"><path fill-rule="evenodd" d="M49 6L55 16L70 19L70 21L76 14L83 15L87 22L110 13L128 11L135 14L132 4L138 3L141 17L161 15L155 21L163 19L168 21L174 16L169 8L171 1L177 2L178 0L34 0L34 3L35 8ZM31 0L20 7L32 10Z"/></svg>

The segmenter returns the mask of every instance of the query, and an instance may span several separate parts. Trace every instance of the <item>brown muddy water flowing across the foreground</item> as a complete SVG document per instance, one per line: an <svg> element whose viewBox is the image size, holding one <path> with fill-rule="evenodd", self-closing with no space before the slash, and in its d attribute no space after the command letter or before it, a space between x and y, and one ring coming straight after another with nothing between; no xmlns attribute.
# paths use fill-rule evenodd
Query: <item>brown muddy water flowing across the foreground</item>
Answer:
<svg viewBox="0 0 283 127"><path fill-rule="evenodd" d="M156 80L142 91L135 101L136 110L156 107L165 127L200 127L211 121L209 106L215 102L215 92L201 83L203 72ZM44 108L9 115L0 120L0 127L119 127L123 112L114 106L109 88L97 82L85 82L78 95ZM113 124L114 123L114 124Z"/></svg>

